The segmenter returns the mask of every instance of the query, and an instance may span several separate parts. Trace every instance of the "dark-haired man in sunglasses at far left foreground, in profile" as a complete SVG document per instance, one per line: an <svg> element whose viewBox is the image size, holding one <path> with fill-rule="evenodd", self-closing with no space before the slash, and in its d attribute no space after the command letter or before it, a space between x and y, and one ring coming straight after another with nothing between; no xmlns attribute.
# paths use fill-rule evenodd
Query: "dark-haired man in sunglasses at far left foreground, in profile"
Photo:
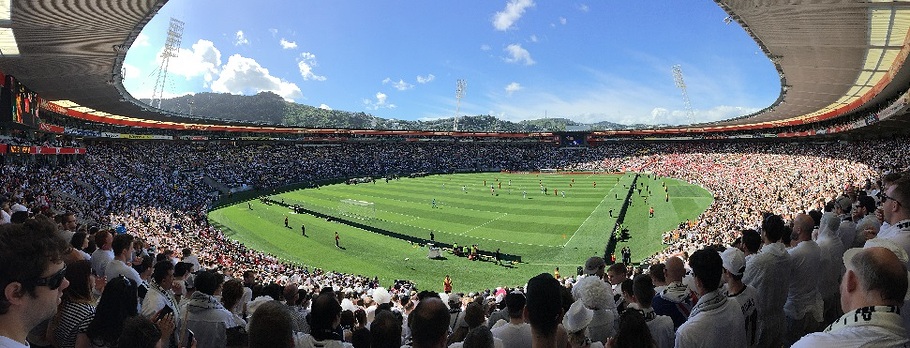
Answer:
<svg viewBox="0 0 910 348"><path fill-rule="evenodd" d="M0 346L27 347L29 331L54 316L69 286L69 248L45 221L0 226Z"/></svg>

